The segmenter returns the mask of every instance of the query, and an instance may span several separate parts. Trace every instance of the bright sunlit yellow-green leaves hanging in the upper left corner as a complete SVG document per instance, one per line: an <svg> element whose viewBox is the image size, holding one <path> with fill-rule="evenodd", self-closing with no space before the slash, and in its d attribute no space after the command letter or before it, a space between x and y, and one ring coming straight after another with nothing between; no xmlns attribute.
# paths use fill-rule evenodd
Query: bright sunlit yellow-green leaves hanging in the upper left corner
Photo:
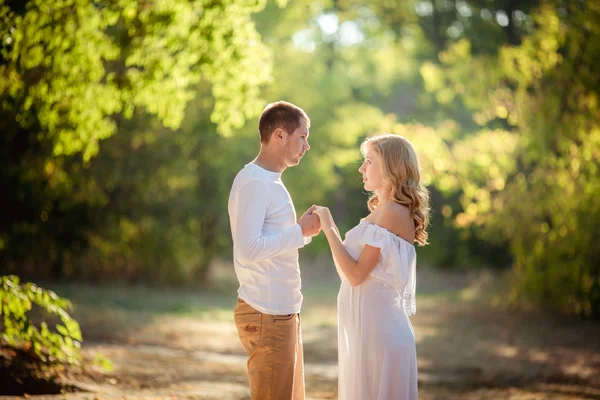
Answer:
<svg viewBox="0 0 600 400"><path fill-rule="evenodd" d="M2 108L23 128L38 125L54 156L83 152L87 161L116 132L112 115L131 117L141 107L176 129L193 85L205 79L212 120L230 132L254 115L269 78L269 53L250 19L260 8L255 1L35 0L18 14L2 1Z"/></svg>

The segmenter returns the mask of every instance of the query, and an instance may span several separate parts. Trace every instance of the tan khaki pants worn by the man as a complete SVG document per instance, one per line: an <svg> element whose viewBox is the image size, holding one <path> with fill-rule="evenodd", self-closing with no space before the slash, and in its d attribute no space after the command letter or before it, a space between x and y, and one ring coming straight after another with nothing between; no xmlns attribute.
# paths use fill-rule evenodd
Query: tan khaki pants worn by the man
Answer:
<svg viewBox="0 0 600 400"><path fill-rule="evenodd" d="M300 314L263 314L238 298L234 320L248 353L252 399L304 400Z"/></svg>

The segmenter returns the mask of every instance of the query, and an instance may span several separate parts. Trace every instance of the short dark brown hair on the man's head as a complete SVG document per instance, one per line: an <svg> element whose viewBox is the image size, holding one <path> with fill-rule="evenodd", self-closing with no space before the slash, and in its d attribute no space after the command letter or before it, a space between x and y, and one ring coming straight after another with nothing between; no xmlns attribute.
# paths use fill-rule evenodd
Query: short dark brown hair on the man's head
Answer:
<svg viewBox="0 0 600 400"><path fill-rule="evenodd" d="M310 119L300 107L287 101L268 104L258 120L260 142L269 143L271 134L277 128L282 128L291 135L300 126L301 118L304 118L307 127L310 128Z"/></svg>

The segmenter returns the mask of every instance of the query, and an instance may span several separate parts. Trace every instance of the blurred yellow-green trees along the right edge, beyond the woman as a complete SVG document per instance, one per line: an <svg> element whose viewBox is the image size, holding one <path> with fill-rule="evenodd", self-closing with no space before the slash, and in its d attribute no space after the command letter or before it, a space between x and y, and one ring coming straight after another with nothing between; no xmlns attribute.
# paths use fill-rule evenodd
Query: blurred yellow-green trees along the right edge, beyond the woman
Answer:
<svg viewBox="0 0 600 400"><path fill-rule="evenodd" d="M423 67L436 99L460 99L485 129L438 141L442 151L430 157L441 156L433 161L439 187L462 191L456 224L510 243L513 300L597 318L600 47L591 38L600 32L600 7L563 11L544 2L534 14L537 29L497 56L473 55L463 39L440 54L441 65ZM494 126L503 128L492 134Z"/></svg>

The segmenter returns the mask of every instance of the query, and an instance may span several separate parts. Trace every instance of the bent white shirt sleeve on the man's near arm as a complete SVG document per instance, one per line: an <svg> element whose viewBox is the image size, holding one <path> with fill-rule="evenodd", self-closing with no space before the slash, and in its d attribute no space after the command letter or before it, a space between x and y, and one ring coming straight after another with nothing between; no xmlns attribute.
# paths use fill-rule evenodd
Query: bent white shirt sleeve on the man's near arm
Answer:
<svg viewBox="0 0 600 400"><path fill-rule="evenodd" d="M276 235L262 234L268 204L268 186L264 181L245 182L233 200L233 210L230 210L233 246L243 264L268 259L306 244L297 223Z"/></svg>

